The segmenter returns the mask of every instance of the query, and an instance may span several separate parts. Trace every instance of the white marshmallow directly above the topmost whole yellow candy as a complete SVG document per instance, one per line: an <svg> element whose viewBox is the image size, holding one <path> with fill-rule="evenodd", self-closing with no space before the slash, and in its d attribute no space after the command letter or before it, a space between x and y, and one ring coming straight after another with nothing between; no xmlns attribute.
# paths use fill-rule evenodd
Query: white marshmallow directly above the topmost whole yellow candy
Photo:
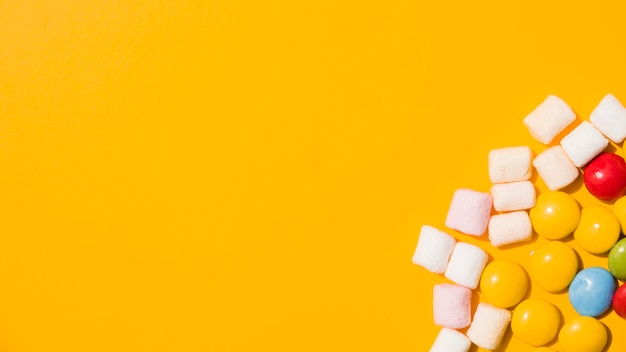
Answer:
<svg viewBox="0 0 626 352"><path fill-rule="evenodd" d="M580 170L572 163L560 145L552 146L539 153L533 166L551 191L557 191L574 182Z"/></svg>

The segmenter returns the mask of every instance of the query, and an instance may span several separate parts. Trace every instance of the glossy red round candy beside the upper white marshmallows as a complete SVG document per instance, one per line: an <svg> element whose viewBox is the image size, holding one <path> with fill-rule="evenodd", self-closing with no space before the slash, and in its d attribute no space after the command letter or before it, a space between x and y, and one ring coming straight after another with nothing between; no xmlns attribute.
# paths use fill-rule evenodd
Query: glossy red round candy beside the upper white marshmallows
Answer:
<svg viewBox="0 0 626 352"><path fill-rule="evenodd" d="M613 201L626 194L626 162L614 153L595 157L583 174L589 193L604 201Z"/></svg>

